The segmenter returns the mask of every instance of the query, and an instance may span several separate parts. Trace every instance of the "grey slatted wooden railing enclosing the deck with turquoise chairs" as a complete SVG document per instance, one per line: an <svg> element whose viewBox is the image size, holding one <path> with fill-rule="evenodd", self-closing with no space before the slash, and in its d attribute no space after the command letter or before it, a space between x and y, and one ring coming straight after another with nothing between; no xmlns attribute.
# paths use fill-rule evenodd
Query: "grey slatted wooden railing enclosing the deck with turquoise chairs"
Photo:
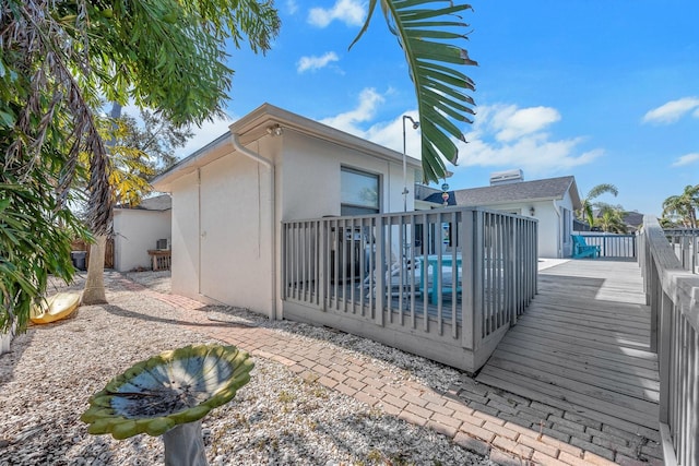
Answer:
<svg viewBox="0 0 699 466"><path fill-rule="evenodd" d="M284 316L474 372L536 294L536 228L455 207L285 222Z"/></svg>

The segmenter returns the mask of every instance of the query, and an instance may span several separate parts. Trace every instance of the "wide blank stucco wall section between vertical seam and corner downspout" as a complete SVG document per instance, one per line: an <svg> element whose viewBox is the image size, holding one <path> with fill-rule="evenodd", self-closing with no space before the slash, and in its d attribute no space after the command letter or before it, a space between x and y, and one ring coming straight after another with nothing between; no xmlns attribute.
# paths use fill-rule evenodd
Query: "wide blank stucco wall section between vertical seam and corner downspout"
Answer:
<svg viewBox="0 0 699 466"><path fill-rule="evenodd" d="M269 314L270 171L234 153L201 168L201 295Z"/></svg>

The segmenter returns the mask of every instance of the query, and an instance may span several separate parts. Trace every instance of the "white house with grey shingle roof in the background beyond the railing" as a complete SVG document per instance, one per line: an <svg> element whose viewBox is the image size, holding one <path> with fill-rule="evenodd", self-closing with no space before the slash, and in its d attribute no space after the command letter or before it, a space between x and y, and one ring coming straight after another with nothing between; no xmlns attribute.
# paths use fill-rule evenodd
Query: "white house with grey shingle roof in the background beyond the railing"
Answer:
<svg viewBox="0 0 699 466"><path fill-rule="evenodd" d="M425 201L441 206L441 191ZM490 176L488 187L449 191L448 204L535 217L540 258L569 258L572 253L573 212L581 205L571 176L524 181L521 170L496 172Z"/></svg>

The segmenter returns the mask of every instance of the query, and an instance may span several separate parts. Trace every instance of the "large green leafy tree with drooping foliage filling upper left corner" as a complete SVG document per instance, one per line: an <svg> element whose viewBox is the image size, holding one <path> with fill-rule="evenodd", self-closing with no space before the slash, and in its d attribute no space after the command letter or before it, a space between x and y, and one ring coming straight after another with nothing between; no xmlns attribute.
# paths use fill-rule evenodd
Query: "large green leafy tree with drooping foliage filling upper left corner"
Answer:
<svg viewBox="0 0 699 466"><path fill-rule="evenodd" d="M1 330L24 326L49 274L72 277L69 230L80 224L67 206L76 177L90 230L107 231L114 195L99 97L178 126L216 117L233 73L227 41L265 51L279 26L268 1L0 2Z"/></svg>

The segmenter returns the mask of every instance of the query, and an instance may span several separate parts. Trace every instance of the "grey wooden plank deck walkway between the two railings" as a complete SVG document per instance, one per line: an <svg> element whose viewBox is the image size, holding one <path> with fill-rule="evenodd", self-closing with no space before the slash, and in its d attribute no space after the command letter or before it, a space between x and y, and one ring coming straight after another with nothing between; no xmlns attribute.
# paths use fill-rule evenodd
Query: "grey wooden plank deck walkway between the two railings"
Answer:
<svg viewBox="0 0 699 466"><path fill-rule="evenodd" d="M636 262L574 260L538 275L538 294L477 381L647 434L659 429L657 357Z"/></svg>

